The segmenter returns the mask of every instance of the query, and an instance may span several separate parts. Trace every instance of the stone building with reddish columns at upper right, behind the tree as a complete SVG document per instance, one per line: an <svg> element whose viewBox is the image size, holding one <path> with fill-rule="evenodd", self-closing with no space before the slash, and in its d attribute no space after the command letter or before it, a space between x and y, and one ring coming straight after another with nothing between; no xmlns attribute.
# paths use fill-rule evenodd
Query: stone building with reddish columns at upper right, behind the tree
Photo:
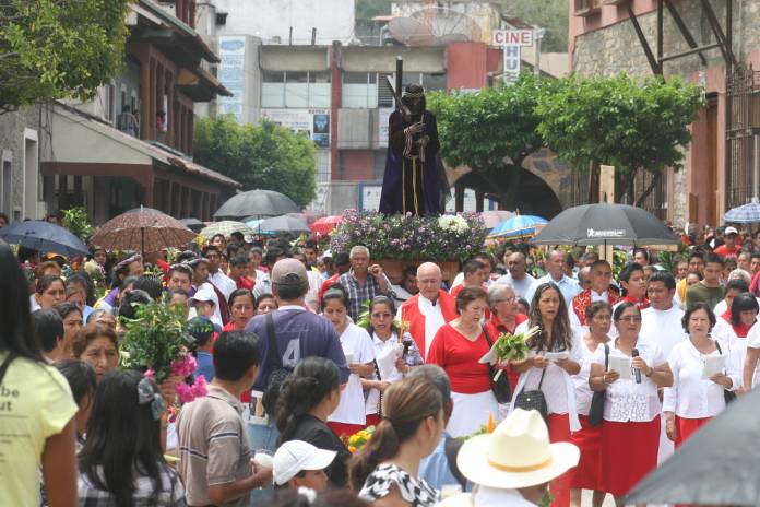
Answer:
<svg viewBox="0 0 760 507"><path fill-rule="evenodd" d="M760 186L760 0L570 0L574 72L680 76L704 89L685 169L648 207L662 219L719 224Z"/></svg>

